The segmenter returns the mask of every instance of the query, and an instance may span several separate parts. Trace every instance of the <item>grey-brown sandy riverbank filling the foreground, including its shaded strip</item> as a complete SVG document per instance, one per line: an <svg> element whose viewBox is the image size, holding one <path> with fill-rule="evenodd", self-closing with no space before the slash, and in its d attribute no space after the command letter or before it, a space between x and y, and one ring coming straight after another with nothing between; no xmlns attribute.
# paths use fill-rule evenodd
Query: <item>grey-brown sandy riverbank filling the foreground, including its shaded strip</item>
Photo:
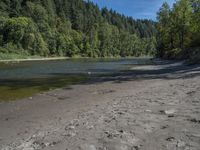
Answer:
<svg viewBox="0 0 200 150"><path fill-rule="evenodd" d="M1 150L199 147L199 65L137 67L31 99L0 103Z"/></svg>

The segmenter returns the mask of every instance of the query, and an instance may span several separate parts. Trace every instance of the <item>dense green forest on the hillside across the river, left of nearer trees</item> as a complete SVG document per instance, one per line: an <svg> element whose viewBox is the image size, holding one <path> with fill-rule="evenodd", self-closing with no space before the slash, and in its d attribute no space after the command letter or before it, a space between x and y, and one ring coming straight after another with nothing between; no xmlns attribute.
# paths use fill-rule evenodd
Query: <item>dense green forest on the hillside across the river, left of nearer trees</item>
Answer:
<svg viewBox="0 0 200 150"><path fill-rule="evenodd" d="M155 55L156 35L154 21L135 20L90 1L0 1L0 55Z"/></svg>

